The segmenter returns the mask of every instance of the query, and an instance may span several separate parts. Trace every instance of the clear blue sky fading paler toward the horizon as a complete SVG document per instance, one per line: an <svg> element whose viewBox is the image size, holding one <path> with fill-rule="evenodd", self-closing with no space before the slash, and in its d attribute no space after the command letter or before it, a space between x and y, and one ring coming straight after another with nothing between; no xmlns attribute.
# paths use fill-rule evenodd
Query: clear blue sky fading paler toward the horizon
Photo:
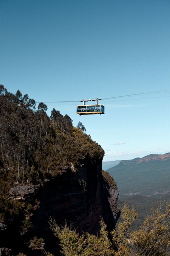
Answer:
<svg viewBox="0 0 170 256"><path fill-rule="evenodd" d="M79 101L169 90L170 1L0 1L0 82L36 102ZM103 100L105 115L79 103L48 103L81 121L104 161L164 154L169 92Z"/></svg>

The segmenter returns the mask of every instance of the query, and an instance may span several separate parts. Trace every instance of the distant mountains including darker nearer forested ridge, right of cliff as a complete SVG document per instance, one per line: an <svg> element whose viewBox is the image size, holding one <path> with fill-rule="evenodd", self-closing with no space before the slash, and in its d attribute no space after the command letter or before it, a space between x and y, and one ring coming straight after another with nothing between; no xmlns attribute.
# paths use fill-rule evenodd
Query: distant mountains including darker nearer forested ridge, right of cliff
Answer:
<svg viewBox="0 0 170 256"><path fill-rule="evenodd" d="M160 198L162 201L170 199L170 153L122 160L106 171L120 191L118 207L121 209L128 202L137 209L139 217L135 225L142 223L150 207Z"/></svg>

